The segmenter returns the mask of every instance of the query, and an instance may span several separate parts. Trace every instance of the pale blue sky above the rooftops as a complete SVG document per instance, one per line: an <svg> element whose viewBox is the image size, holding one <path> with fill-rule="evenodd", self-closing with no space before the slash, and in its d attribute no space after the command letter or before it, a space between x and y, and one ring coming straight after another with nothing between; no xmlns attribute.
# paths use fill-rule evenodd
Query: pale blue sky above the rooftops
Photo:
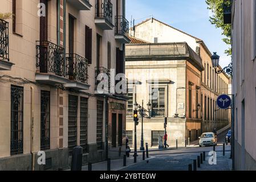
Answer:
<svg viewBox="0 0 256 182"><path fill-rule="evenodd" d="M209 22L212 13L205 0L126 0L125 11L129 22L131 16L137 24L153 15L161 22L204 40L212 53L221 56L222 68L231 62L231 57L224 53L229 46L222 41L221 29Z"/></svg>

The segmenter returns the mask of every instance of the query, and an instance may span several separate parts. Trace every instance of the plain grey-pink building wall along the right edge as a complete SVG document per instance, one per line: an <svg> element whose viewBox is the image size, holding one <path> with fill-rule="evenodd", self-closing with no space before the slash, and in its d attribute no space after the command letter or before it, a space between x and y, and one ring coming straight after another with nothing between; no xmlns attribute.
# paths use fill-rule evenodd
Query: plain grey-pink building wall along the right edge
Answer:
<svg viewBox="0 0 256 182"><path fill-rule="evenodd" d="M232 24L235 170L256 169L255 12L253 0L225 3L225 23Z"/></svg>

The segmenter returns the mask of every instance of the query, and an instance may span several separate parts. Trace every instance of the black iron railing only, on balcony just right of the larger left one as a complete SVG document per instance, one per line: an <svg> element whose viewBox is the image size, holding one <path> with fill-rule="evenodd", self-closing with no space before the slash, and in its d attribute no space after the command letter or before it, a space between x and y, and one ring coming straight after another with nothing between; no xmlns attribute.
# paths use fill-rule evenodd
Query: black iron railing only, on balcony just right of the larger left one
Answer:
<svg viewBox="0 0 256 182"><path fill-rule="evenodd" d="M88 60L76 53L66 55L67 75L70 80L88 84Z"/></svg>

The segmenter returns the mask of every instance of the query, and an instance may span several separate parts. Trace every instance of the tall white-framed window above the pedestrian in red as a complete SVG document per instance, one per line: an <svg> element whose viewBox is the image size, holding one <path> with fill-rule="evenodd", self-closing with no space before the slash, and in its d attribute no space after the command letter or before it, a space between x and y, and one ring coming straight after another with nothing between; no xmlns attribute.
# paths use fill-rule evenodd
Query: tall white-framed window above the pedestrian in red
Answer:
<svg viewBox="0 0 256 182"><path fill-rule="evenodd" d="M165 88L152 88L152 116L165 116Z"/></svg>

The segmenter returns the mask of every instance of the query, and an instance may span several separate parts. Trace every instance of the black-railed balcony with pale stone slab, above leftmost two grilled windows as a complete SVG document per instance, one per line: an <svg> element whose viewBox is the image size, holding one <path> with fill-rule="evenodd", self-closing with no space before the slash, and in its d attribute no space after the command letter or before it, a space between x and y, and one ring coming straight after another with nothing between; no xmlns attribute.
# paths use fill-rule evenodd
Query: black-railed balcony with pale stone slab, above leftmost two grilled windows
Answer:
<svg viewBox="0 0 256 182"><path fill-rule="evenodd" d="M36 42L36 81L44 84L66 84L64 48L48 41Z"/></svg>

